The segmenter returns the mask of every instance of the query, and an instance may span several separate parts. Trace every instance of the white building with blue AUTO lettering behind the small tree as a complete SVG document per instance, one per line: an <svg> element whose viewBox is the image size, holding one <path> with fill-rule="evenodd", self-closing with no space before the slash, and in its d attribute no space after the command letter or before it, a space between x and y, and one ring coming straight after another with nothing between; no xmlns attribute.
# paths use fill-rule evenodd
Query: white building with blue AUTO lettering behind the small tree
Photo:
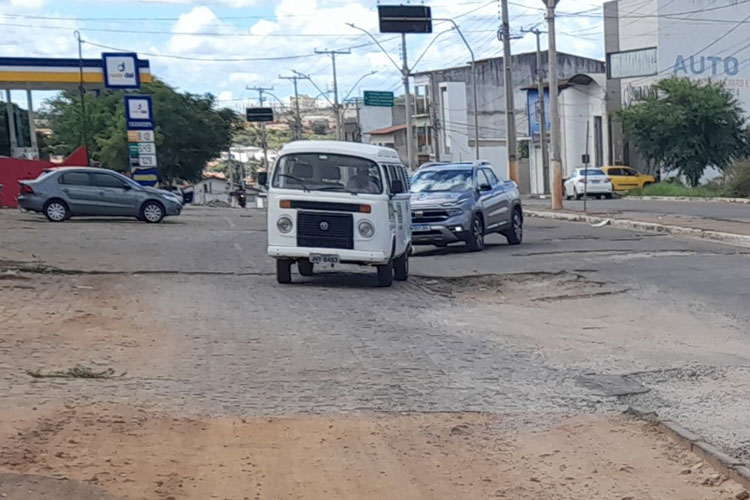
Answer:
<svg viewBox="0 0 750 500"><path fill-rule="evenodd" d="M608 111L642 99L672 76L723 82L750 111L750 2L617 0L604 4ZM616 123L612 164L644 168Z"/></svg>

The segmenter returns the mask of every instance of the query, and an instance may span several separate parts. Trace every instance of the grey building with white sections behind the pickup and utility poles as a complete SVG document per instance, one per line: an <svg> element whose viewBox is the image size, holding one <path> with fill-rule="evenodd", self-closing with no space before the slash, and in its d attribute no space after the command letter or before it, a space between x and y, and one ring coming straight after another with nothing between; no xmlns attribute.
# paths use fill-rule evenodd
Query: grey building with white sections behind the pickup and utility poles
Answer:
<svg viewBox="0 0 750 500"><path fill-rule="evenodd" d="M542 70L548 64L542 54ZM512 57L516 130L519 142L530 141L526 87L537 80L536 53ZM578 74L604 73L604 62L558 53L558 77L570 79ZM505 86L503 58L476 62L479 133L474 130L472 70L470 66L417 73L415 123L420 160L471 161L479 142L480 159L488 160L498 176L508 178ZM585 127L585 125L584 125ZM523 170L523 169L522 169ZM530 191L530 172L521 172L521 188Z"/></svg>

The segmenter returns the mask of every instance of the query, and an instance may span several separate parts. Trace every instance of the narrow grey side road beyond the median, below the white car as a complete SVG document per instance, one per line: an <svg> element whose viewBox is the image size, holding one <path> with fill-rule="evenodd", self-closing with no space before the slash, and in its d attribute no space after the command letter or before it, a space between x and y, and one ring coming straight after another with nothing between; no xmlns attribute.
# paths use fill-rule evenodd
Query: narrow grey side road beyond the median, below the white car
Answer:
<svg viewBox="0 0 750 500"><path fill-rule="evenodd" d="M549 208L549 200L524 200L527 207ZM583 211L583 201L567 200L566 210ZM595 213L633 213L644 215L672 215L679 217L700 217L720 222L746 222L750 224L750 205L741 203L716 203L692 201L652 201L652 200L588 200L588 211Z"/></svg>

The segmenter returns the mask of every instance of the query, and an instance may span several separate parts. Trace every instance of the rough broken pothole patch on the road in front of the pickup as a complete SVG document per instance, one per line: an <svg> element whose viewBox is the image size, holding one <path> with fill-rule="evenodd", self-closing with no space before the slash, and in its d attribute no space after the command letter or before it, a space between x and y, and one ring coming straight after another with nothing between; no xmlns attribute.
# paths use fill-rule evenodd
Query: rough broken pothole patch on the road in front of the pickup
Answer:
<svg viewBox="0 0 750 500"><path fill-rule="evenodd" d="M616 283L567 271L417 279L430 293L484 303L560 302L629 291Z"/></svg>

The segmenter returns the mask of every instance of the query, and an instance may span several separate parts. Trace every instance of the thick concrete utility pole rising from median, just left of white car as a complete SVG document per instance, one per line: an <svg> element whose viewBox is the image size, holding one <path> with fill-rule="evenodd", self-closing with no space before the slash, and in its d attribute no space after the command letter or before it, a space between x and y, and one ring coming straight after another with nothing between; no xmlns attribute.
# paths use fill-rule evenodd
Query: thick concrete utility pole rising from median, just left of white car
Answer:
<svg viewBox="0 0 750 500"><path fill-rule="evenodd" d="M560 104L557 84L557 40L555 39L555 7L559 0L544 0L547 5L549 31L549 97L552 125L552 210L562 210L562 155L560 148Z"/></svg>

